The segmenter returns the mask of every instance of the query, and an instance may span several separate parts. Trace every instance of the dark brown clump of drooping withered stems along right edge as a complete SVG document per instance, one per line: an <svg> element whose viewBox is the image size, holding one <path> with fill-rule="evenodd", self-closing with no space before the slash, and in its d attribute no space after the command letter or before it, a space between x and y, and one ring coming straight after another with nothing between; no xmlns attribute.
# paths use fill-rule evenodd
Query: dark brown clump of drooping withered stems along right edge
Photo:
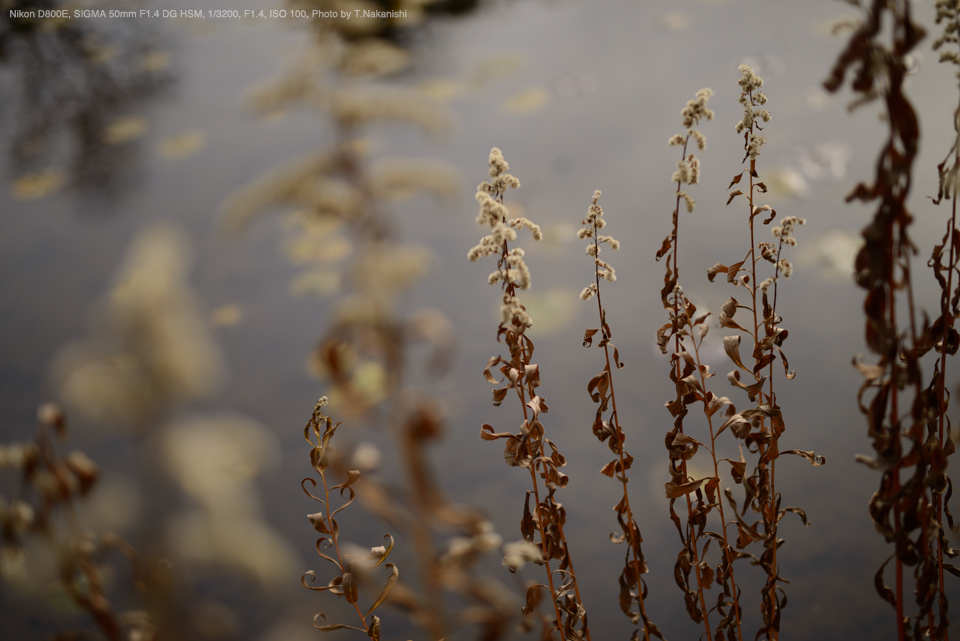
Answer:
<svg viewBox="0 0 960 641"><path fill-rule="evenodd" d="M947 356L957 351L954 328L960 292L955 290L960 234L956 229L957 144L938 167L939 204L953 197L954 206L940 245L929 265L940 286L940 315L931 324L921 315L914 294L911 257L917 253L909 235L913 215L907 207L914 161L920 141L919 120L904 93L912 56L924 37L913 21L908 0L870 3L852 0L862 19L852 25L852 35L840 53L824 86L836 92L852 73L851 88L858 94L850 109L880 98L887 139L877 158L873 179L858 184L847 201L876 202L873 220L862 232L864 245L856 258L855 279L867 290L864 300L867 347L875 363L854 364L864 380L858 392L860 411L867 418L867 435L876 453L858 460L881 474L880 488L870 499L869 512L877 531L894 553L878 570L877 593L896 613L897 636L947 639L949 619L944 570L958 570L944 560L956 556L943 527L952 492L946 475L947 457L954 452L946 413L949 395L944 377ZM943 37L934 43L957 44L956 2L936 3L937 23L946 20ZM886 39L889 38L889 43ZM942 61L960 62L954 51L941 53ZM954 131L957 130L956 115ZM946 272L946 275L944 275ZM933 376L924 386L923 356L930 351ZM894 564L894 586L886 584L887 565ZM913 568L913 585L906 568ZM914 606L908 605L910 590Z"/></svg>

